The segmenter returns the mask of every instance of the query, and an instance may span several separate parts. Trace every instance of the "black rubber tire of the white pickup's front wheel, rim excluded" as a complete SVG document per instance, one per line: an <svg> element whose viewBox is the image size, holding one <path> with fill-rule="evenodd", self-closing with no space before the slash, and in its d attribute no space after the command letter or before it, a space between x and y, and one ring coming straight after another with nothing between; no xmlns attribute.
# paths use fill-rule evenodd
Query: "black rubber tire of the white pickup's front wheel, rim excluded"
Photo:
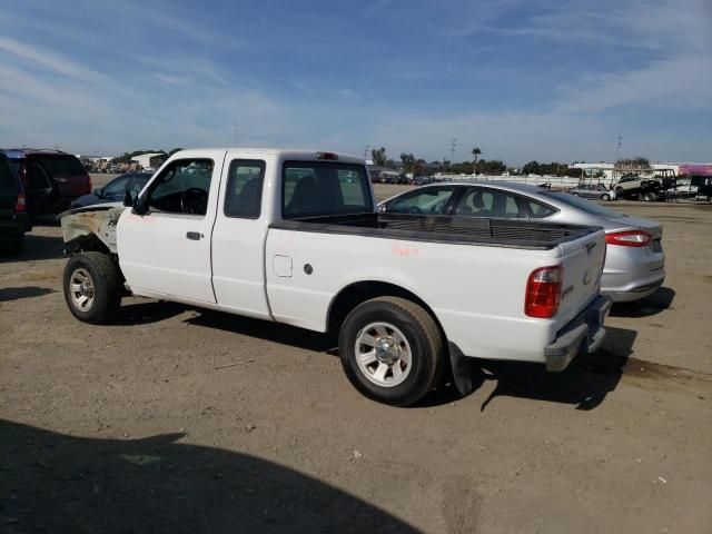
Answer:
<svg viewBox="0 0 712 534"><path fill-rule="evenodd" d="M93 286L92 301L85 308L76 303L70 287L76 274L88 275ZM96 325L113 319L121 306L121 286L119 267L103 253L78 254L65 267L65 301L71 314L83 323Z"/></svg>

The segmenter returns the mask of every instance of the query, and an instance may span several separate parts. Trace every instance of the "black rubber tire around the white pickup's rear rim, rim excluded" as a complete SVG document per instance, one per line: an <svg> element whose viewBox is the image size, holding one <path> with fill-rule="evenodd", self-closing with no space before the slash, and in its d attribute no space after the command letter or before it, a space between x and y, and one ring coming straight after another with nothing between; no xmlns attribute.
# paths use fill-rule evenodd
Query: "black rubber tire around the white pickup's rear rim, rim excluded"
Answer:
<svg viewBox="0 0 712 534"><path fill-rule="evenodd" d="M403 383L384 387L359 368L356 342L369 324L384 322L403 333L411 346L411 369ZM422 306L399 297L378 297L354 308L339 334L342 366L350 383L366 397L392 406L407 406L428 394L437 384L444 362L443 336Z"/></svg>

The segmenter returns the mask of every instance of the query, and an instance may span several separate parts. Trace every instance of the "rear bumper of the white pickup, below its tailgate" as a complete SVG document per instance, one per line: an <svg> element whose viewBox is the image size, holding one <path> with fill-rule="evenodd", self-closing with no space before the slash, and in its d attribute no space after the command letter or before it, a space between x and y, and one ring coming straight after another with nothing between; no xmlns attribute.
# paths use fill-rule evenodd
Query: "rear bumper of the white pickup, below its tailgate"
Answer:
<svg viewBox="0 0 712 534"><path fill-rule="evenodd" d="M596 297L583 312L556 334L556 340L544 348L546 370L564 370L578 354L592 354L605 337L603 323L612 300Z"/></svg>

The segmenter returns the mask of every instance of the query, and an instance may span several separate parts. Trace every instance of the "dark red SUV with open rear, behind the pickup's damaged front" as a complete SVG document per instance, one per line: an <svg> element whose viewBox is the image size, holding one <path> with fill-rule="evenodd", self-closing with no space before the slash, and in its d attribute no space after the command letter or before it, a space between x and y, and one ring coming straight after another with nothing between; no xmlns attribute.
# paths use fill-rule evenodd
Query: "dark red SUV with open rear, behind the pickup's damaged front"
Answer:
<svg viewBox="0 0 712 534"><path fill-rule="evenodd" d="M38 148L0 149L20 177L31 215L58 214L91 192L91 178L71 154Z"/></svg>

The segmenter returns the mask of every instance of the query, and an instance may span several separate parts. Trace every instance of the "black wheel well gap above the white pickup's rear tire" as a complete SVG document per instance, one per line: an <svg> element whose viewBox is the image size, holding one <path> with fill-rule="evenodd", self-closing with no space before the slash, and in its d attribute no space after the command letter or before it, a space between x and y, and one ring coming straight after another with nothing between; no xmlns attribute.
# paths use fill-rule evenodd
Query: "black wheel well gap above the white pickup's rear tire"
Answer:
<svg viewBox="0 0 712 534"><path fill-rule="evenodd" d="M437 320L437 316L421 297L400 286L388 284L386 281L358 281L342 289L329 307L327 332L333 335L338 335L344 319L352 309L359 304L376 297L400 297L423 306L423 308L433 317L433 320L435 320L443 339L445 342L447 340L443 326L439 320Z"/></svg>

